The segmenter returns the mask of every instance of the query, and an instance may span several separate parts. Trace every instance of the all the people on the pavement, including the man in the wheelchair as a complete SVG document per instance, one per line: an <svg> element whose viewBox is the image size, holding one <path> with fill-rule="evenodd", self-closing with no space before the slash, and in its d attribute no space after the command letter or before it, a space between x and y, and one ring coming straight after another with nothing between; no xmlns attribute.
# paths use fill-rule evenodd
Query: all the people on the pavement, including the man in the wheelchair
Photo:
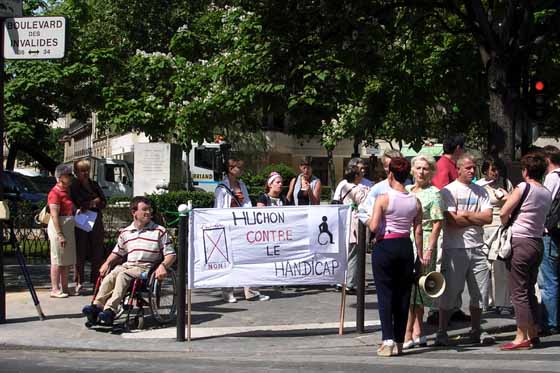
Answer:
<svg viewBox="0 0 560 373"><path fill-rule="evenodd" d="M540 335L558 332L560 235L547 231L545 220L560 191L560 150L546 146L525 154L521 159L523 181L514 187L500 160L492 157L483 160L482 177L477 178L477 160L464 151L464 145L463 136L448 138L437 162L430 155L419 154L409 161L397 150L386 151L381 158L386 179L378 183L365 177L364 161L353 158L333 194L331 203L352 206L346 292L351 294L357 282L359 220L369 228L374 244L372 269L382 328L380 356L427 345L425 308L438 315L435 345L449 345L449 321L462 308L465 285L470 298L470 342L494 343L494 337L481 328L483 311L492 307L515 315L515 338L502 344L502 350L532 348L540 343ZM64 298L71 293L68 276L72 268L74 293L81 292L86 260L92 264L89 280L93 283L98 274L107 275L109 267L128 254L118 271L105 276L97 303L84 308L88 318L112 322L117 298L128 280L156 263L156 274L165 276L175 253L165 228L151 221L151 205L143 197L135 197L131 204L131 226L123 230L112 252L105 252L101 214L106 199L89 178L86 161L74 168L76 178L70 167L56 168L57 183L48 195L51 297ZM299 169L286 196L282 176L270 173L256 206L320 204L321 181L313 176L309 159L304 159ZM242 161L227 161L224 179L215 191L215 208L252 206L247 187L240 180L242 173ZM76 214L87 210L97 213L93 230L88 232L74 222ZM511 253L493 257L487 242L506 224L511 225ZM151 246L134 254L127 248L132 239L127 235L134 240L146 236ZM155 252L164 255L155 258ZM433 271L439 271L446 284L437 299L417 286L419 276ZM222 295L225 302L237 302L233 288L223 288ZM270 299L250 287L244 288L244 296L251 301Z"/></svg>

